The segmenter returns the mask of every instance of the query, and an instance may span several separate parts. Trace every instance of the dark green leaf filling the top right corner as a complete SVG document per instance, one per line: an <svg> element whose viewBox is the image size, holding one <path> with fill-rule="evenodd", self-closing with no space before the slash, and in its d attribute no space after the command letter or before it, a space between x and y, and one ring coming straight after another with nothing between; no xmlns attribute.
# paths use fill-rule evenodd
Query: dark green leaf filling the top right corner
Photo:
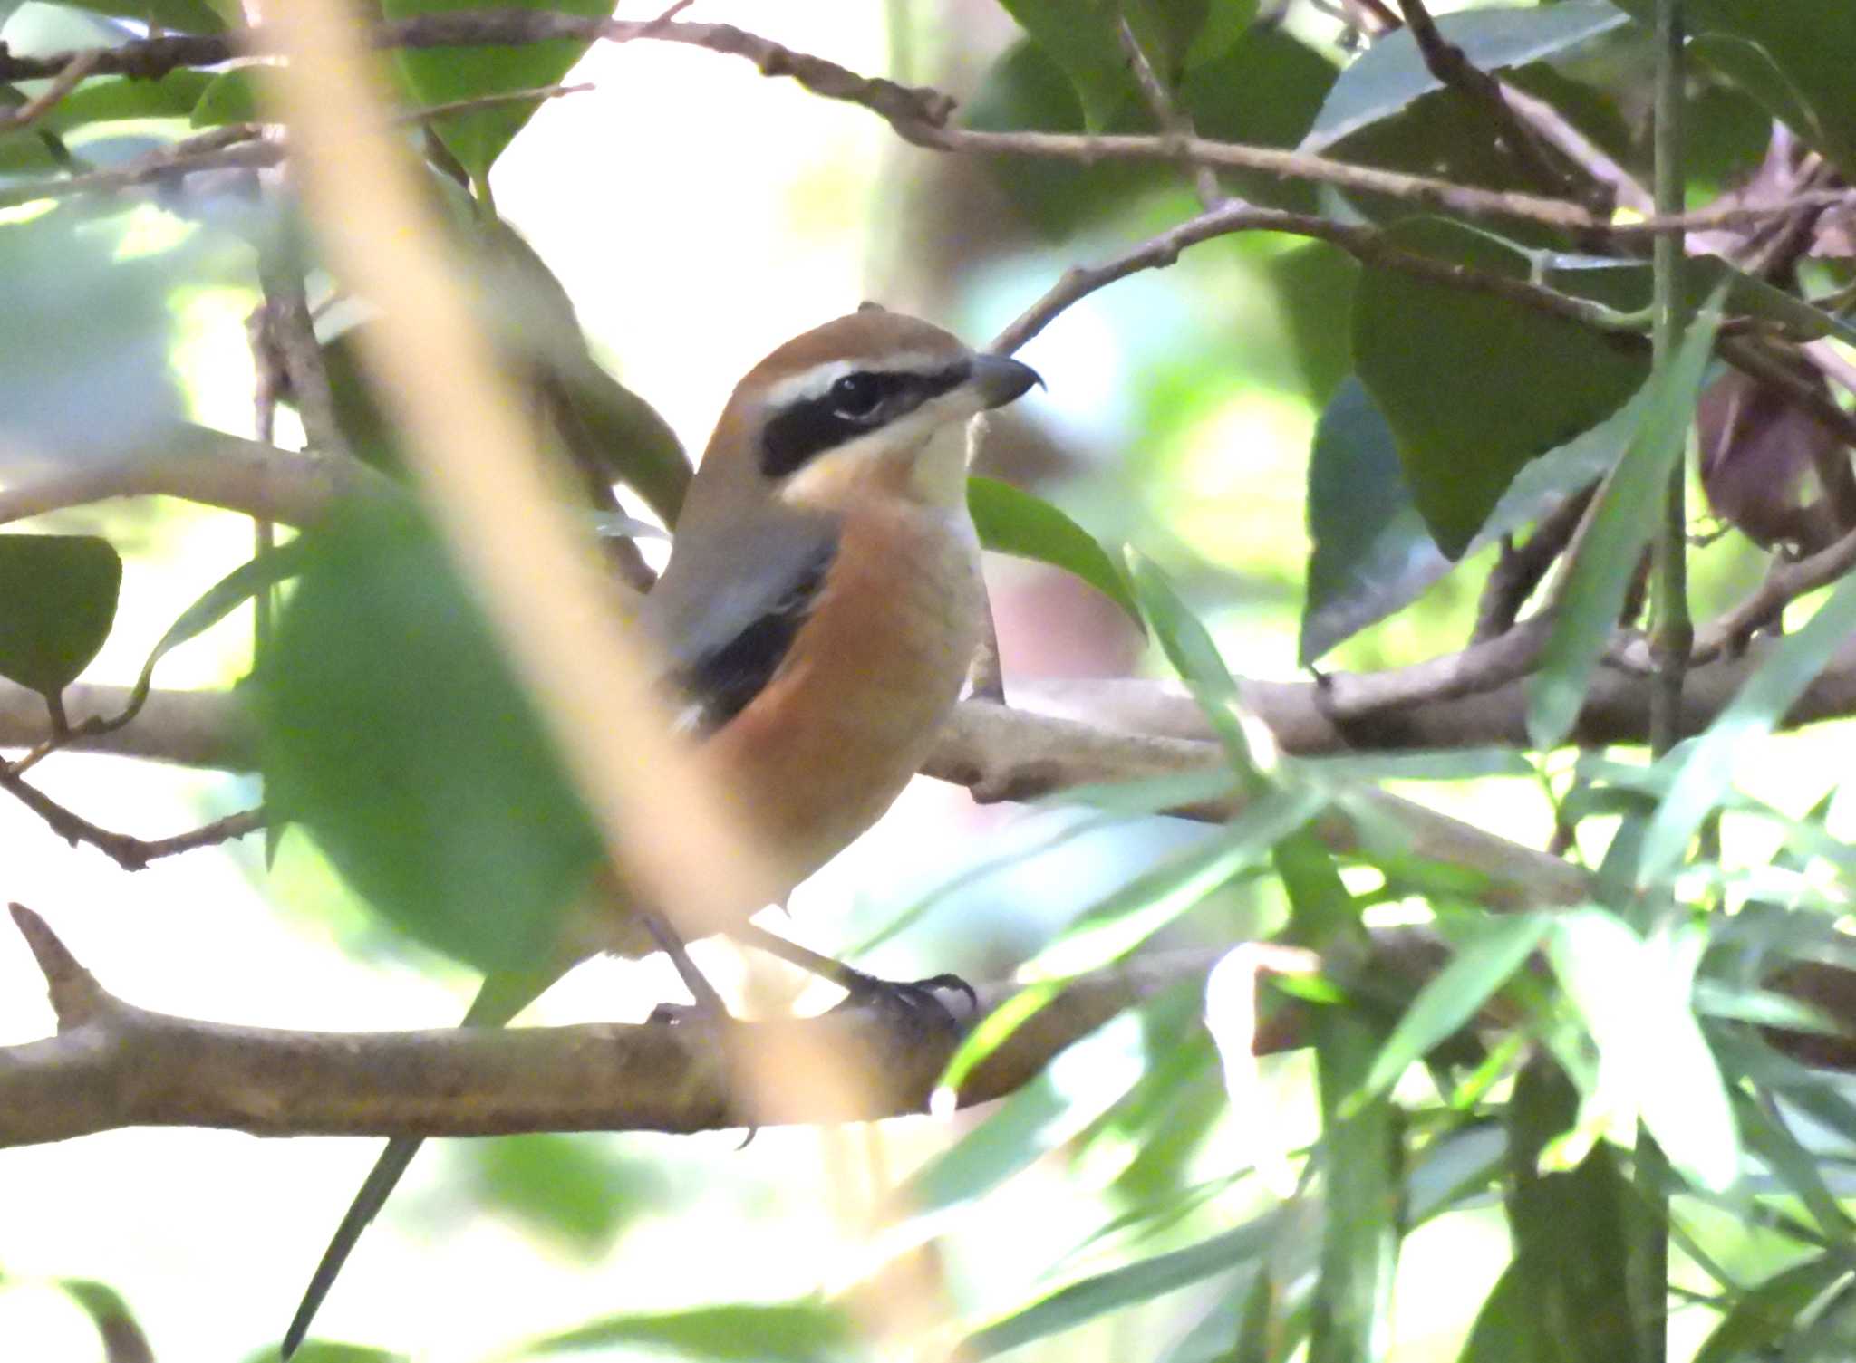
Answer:
<svg viewBox="0 0 1856 1363"><path fill-rule="evenodd" d="M1654 0L1617 0L1641 24L1656 19ZM1767 80L1748 72L1743 59L1728 56L1722 70L1735 80L1746 80L1746 93L1759 100L1774 119L1798 119L1798 102L1808 119L1791 122L1798 137L1815 145L1843 167L1856 172L1856 87L1849 72L1856 69L1856 7L1845 4L1774 4L1772 0L1687 0L1683 24L1696 37L1732 37L1759 48L1782 80ZM1717 59L1730 48L1704 43L1704 59Z"/></svg>

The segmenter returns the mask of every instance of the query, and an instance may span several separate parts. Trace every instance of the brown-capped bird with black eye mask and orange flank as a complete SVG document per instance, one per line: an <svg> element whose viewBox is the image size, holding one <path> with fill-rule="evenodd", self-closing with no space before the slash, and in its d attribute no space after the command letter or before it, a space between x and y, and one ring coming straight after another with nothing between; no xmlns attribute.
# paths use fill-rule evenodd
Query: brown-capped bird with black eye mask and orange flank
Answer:
<svg viewBox="0 0 1856 1363"><path fill-rule="evenodd" d="M724 404L635 623L664 664L676 727L715 758L787 886L889 809L960 699L986 608L967 425L1041 382L1019 360L865 304L772 350ZM909 1005L922 987L965 988L865 975L750 924L763 907L741 905L729 935L852 998ZM598 949L664 949L698 1009L720 1005L635 892L614 885L592 920L559 961L488 975L464 1025L510 1022ZM388 1140L284 1331L284 1359L419 1144Z"/></svg>

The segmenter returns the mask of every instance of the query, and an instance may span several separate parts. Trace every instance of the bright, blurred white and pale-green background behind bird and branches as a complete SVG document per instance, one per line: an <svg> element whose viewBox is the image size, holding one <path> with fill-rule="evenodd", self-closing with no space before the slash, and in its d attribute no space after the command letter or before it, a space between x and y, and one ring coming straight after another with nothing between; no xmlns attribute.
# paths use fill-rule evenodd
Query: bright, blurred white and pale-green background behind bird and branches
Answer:
<svg viewBox="0 0 1856 1363"><path fill-rule="evenodd" d="M0 37L20 48L45 41L33 28L46 22L39 9L22 6ZM737 22L852 70L963 96L982 87L1015 33L991 0L702 0L685 17ZM1308 19L1305 37L1321 52L1318 20ZM1325 56L1342 59L1333 48ZM1002 182L984 165L904 146L867 111L767 80L748 63L672 45L601 45L570 80L594 89L542 106L494 171L497 206L564 282L596 352L690 451L739 373L863 299L930 315L978 343L1067 265L1114 254L1190 211L1180 185L1134 197L1123 213L1052 243L1012 193L1012 167ZM117 250L132 254L191 228L147 204L113 230ZM173 363L195 419L249 436L245 317L258 299L238 278L228 267L226 282L169 297L182 336ZM1117 284L1023 350L1049 391L1002 421L995 441L991 471L1036 486L1104 543L1141 545L1193 597L1221 603L1210 623L1245 675L1295 675L1305 460L1344 363L1336 338L1347 280L1321 247L1242 239ZM1323 336L1316 325L1310 336L1321 297L1331 330ZM106 504L45 525L108 532L128 558L122 625L87 681L132 681L165 623L251 545L249 521L173 503ZM1730 556L1709 567L1719 590L1745 571ZM1008 688L1025 677L1154 668L1140 636L1088 588L1021 562L991 569ZM1420 610L1349 643L1334 662L1379 666L1453 647L1474 608L1474 588L1459 582L1463 573L1446 579ZM226 686L247 662L241 614L176 651L160 684ZM1841 751L1847 740L1815 731L1811 742L1824 762L1824 744ZM106 757L59 755L41 779L95 822L143 836L256 797L249 779ZM1785 773L1774 771L1774 792L1784 786ZM1425 797L1474 807L1479 823L1522 840L1539 842L1548 827L1546 801L1527 783L1427 788ZM917 783L796 896L793 931L839 949L967 868L1015 857L945 894L869 961L893 975L956 970L997 979L1158 847L1195 836L1151 820L1028 855L1065 827L1063 814L982 810L965 792ZM269 870L251 840L130 875L91 849L61 846L24 809L0 801L0 846L6 896L45 914L80 961L141 1007L269 1027L431 1027L458 1016L473 987L462 970L373 925L295 833ZM1245 936L1268 929L1277 911L1231 892L1171 936ZM700 955L739 983L726 953ZM676 996L657 962L596 962L531 1018L640 1018ZM1052 1133L1060 1148L932 1228L963 1320L1010 1309L1102 1254L1091 1237L1117 1215L1127 1189L1117 1179L1143 1150L1089 1115L1130 1072L1171 1053L1169 1025L1195 1029L1192 1011L1192 1000L1173 1001L1149 1011L1145 1027L1123 1020L1091 1038L1058 1076L1076 1103L1073 1129ZM50 1031L41 977L24 948L0 936L0 1044ZM1270 1111L1229 1115L1216 1066L1206 1070L1177 1115L1180 1150L1167 1178L1221 1176L1240 1157L1281 1157L1307 1140L1314 1115L1305 1061L1268 1063L1266 1081L1279 1100ZM520 1356L525 1339L616 1311L833 1293L876 1263L869 1228L882 1191L980 1116L763 1129L744 1150L729 1133L438 1142L364 1237L317 1333L462 1363ZM1088 1142L1060 1140L1084 1127ZM119 1291L161 1359L254 1354L288 1320L373 1155L366 1140L191 1129L7 1152L0 1357L104 1357L85 1317L48 1285L59 1278ZM1262 1196L1257 1179L1238 1183L1154 1244ZM1401 1281L1412 1291L1399 1300L1394 1357L1451 1357L1503 1259L1492 1204L1416 1233L1403 1254ZM1021 1357L1154 1357L1212 1296L1199 1287L1160 1298Z"/></svg>

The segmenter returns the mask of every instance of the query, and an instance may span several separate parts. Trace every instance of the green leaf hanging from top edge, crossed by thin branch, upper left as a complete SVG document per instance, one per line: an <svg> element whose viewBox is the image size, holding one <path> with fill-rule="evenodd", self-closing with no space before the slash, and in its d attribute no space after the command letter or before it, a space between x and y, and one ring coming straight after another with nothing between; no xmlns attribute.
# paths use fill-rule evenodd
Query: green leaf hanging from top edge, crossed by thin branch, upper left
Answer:
<svg viewBox="0 0 1856 1363"><path fill-rule="evenodd" d="M380 0L380 15L388 20L470 13L484 7L494 6L473 0ZM510 7L607 19L612 13L612 0L514 0ZM399 67L414 98L419 104L434 106L555 85L588 46L577 39L561 39L512 48L401 48L393 52L393 65ZM470 113L447 113L429 126L471 180L484 182L490 165L535 117L536 108L540 108L538 100L494 104Z"/></svg>

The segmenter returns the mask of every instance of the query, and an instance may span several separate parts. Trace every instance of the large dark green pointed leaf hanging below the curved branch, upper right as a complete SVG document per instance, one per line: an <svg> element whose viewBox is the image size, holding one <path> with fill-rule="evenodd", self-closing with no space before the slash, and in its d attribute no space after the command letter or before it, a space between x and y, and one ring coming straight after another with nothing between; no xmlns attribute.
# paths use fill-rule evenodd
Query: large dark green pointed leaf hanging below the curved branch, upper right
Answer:
<svg viewBox="0 0 1856 1363"><path fill-rule="evenodd" d="M1388 237L1489 274L1529 273L1524 250L1455 223L1412 219ZM1451 558L1529 460L1617 412L1648 369L1631 338L1377 265L1355 291L1353 352L1412 503Z"/></svg>

